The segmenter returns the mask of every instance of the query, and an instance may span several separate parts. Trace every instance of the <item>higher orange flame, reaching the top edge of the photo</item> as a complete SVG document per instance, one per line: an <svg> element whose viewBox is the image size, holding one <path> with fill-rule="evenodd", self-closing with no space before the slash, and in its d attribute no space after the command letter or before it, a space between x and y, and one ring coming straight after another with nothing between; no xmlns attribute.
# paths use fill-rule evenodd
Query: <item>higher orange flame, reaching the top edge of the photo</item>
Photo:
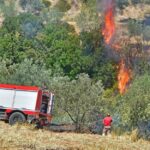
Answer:
<svg viewBox="0 0 150 150"><path fill-rule="evenodd" d="M106 8L105 10L104 20L105 24L102 29L102 34L104 36L105 43L110 44L111 39L115 33L113 1L111 2L110 6L108 6L108 8Z"/></svg>

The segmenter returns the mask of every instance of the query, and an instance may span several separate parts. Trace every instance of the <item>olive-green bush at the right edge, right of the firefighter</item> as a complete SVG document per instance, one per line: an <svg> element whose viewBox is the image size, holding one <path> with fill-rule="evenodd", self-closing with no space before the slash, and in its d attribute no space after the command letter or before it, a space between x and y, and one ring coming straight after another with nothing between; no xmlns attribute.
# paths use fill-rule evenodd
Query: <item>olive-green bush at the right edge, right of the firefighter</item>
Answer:
<svg viewBox="0 0 150 150"><path fill-rule="evenodd" d="M148 74L137 77L127 93L121 98L123 122L130 127L137 127L140 122L149 120L149 85Z"/></svg>

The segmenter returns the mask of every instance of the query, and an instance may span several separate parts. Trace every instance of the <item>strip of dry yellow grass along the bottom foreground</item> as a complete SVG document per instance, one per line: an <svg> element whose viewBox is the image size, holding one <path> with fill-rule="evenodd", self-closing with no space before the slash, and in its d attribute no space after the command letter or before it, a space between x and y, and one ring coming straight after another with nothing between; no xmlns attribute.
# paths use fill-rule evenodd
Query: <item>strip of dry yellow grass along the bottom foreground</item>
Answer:
<svg viewBox="0 0 150 150"><path fill-rule="evenodd" d="M0 122L0 150L149 150L146 141L129 137L55 133L29 125L9 126Z"/></svg>

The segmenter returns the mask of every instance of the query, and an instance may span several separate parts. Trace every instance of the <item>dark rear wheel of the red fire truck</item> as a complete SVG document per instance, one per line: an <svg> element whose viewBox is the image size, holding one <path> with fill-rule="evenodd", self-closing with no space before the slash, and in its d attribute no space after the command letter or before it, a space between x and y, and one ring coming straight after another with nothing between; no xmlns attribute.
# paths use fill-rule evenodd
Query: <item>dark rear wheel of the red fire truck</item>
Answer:
<svg viewBox="0 0 150 150"><path fill-rule="evenodd" d="M24 122L26 120L25 116L20 112L14 112L9 117L9 124L13 125L17 122Z"/></svg>

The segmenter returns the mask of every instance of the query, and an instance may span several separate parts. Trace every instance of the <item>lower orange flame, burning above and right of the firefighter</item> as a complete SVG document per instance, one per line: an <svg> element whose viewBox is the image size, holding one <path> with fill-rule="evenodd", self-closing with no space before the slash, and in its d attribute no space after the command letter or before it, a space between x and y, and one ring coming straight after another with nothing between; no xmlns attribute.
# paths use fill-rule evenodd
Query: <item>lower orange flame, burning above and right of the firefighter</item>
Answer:
<svg viewBox="0 0 150 150"><path fill-rule="evenodd" d="M126 67L125 61L122 59L119 64L119 73L118 73L118 89L120 91L120 94L125 93L129 81L130 81L130 71Z"/></svg>

